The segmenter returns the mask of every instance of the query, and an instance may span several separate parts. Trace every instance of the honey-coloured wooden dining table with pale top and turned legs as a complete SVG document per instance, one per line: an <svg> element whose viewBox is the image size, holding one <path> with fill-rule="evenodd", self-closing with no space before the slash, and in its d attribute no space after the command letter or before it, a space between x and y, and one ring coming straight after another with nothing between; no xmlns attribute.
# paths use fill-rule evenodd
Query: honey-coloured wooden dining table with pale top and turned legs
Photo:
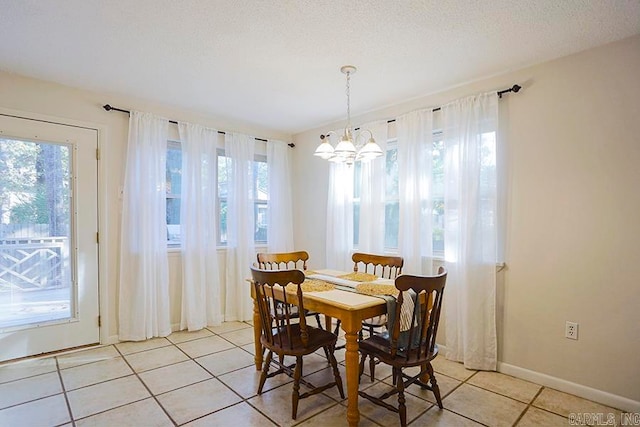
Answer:
<svg viewBox="0 0 640 427"><path fill-rule="evenodd" d="M328 290L304 291L302 293L302 303L305 310L325 315L327 330L331 330L332 318L340 319L341 321L346 340L347 421L349 426L357 426L360 420L360 411L358 410L358 335L362 328L362 321L385 314L387 312L387 303L384 298L358 292L356 290L358 282L344 279L344 277L349 276L349 273L344 271L315 269L313 271L305 271L305 276L312 280L321 280L335 285L334 288ZM370 283L392 285L393 281L376 279ZM257 370L262 370L263 349L260 343L262 325L254 292L252 286L255 365ZM295 298L287 298L287 301L291 303L297 300Z"/></svg>

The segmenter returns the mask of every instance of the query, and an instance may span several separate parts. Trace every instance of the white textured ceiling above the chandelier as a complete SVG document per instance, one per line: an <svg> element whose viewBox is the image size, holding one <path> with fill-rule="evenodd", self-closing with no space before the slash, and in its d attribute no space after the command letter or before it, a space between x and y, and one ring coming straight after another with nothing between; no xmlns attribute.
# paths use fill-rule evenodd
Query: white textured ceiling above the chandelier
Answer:
<svg viewBox="0 0 640 427"><path fill-rule="evenodd" d="M357 115L638 33L640 0L0 0L0 69L297 133L344 64Z"/></svg>

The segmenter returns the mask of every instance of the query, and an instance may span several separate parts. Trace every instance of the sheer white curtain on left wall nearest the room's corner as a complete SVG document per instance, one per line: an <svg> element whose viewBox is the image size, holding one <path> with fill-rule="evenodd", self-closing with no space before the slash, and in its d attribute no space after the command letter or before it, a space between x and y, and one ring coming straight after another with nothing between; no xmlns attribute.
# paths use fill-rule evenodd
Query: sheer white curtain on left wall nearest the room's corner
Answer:
<svg viewBox="0 0 640 427"><path fill-rule="evenodd" d="M270 252L293 250L291 197L291 148L282 141L267 141L269 171L268 248Z"/></svg>

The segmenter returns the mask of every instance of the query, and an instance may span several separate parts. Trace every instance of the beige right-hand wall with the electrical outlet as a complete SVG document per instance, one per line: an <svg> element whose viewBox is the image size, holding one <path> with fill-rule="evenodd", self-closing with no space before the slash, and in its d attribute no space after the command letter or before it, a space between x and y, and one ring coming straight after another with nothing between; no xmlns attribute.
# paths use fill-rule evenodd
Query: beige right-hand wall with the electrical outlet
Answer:
<svg viewBox="0 0 640 427"><path fill-rule="evenodd" d="M501 369L640 410L640 37L353 122L514 83L523 90L500 101L510 147ZM295 246L310 253L311 268L325 260L328 185L328 162L312 153L340 125L294 136ZM567 320L580 324L578 341L564 338Z"/></svg>

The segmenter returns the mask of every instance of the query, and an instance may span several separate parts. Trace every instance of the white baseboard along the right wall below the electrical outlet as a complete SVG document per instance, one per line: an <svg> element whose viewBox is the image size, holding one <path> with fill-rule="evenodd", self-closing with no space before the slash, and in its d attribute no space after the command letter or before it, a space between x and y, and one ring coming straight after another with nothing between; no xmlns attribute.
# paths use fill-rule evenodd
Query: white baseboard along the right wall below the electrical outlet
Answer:
<svg viewBox="0 0 640 427"><path fill-rule="evenodd" d="M498 362L498 372L511 375L516 378L531 381L545 387L553 388L565 393L570 393L584 399L593 400L612 408L621 409L627 412L640 412L640 402L628 399L623 396L597 390L582 384L577 384L551 375L541 374L519 366Z"/></svg>

